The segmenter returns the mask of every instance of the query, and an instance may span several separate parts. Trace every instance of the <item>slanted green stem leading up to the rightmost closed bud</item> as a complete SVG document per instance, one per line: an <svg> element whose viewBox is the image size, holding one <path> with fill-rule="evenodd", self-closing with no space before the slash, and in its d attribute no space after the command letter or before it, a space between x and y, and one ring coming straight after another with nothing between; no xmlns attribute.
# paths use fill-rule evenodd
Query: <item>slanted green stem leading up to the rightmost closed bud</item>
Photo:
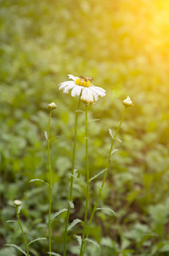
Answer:
<svg viewBox="0 0 169 256"><path fill-rule="evenodd" d="M97 198L97 200L96 200L96 202L95 202L95 204L94 204L93 212L92 212L92 214L91 214L91 217L90 217L90 220L89 220L89 223L88 223L86 238L87 238L88 235L89 235L89 230L90 230L90 226L91 226L92 221L93 221L94 212L96 211L96 208L98 207L99 199L100 199L100 197L101 197L101 195L102 195L102 191L103 191L103 189L104 189L105 178L106 178L106 176L107 176L107 172L108 172L108 169L109 169L109 166L110 166L111 152L112 152L112 148L113 148L114 143L115 143L115 137L117 136L117 133L118 133L119 129L121 128L121 124L122 124L122 122L123 122L123 120L124 120L124 117L125 117L125 114L126 114L126 113L127 113L127 107L126 107L125 110L124 110L124 113L123 113L122 118L121 118L121 122L120 122L119 126L117 127L117 129L116 129L116 131L115 131L115 136L114 136L113 139L112 139L112 143L111 143L111 146L110 146L110 153L109 153L109 157L108 157L108 161L107 161L107 165L106 165L106 170L105 170L105 172L104 172L104 179L103 179L102 185L101 185L101 187L100 187L100 189L99 189L99 195L98 195L98 198ZM87 241L84 242L84 246L83 246L82 253L80 254L80 256L83 256L83 255L84 255L86 245L87 245Z"/></svg>

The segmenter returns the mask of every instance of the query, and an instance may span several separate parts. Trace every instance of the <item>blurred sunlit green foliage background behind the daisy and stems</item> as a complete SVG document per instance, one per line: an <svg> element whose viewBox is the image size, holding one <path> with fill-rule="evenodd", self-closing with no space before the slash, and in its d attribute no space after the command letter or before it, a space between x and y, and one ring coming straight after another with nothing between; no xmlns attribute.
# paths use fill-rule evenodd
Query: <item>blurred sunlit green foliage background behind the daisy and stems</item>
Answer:
<svg viewBox="0 0 169 256"><path fill-rule="evenodd" d="M24 201L20 214L28 241L48 236L48 181L44 131L48 103L55 102L51 143L54 170L53 212L66 207L77 99L58 90L66 74L93 76L107 96L90 107L89 164L91 177L104 169L110 148L109 128L121 119L127 95L128 109L113 155L90 236L101 255L169 255L169 3L167 0L119 1L0 1L0 255L21 255L24 248L15 219L14 199ZM82 109L84 107L82 106ZM85 180L84 115L79 115L76 169ZM101 176L91 183L91 206ZM70 221L83 218L85 191L75 181L76 210ZM91 210L91 209L90 209ZM62 253L65 213L53 222L53 251ZM73 234L68 255L78 254ZM31 255L48 252L48 241L30 247ZM88 244L86 255L97 248Z"/></svg>

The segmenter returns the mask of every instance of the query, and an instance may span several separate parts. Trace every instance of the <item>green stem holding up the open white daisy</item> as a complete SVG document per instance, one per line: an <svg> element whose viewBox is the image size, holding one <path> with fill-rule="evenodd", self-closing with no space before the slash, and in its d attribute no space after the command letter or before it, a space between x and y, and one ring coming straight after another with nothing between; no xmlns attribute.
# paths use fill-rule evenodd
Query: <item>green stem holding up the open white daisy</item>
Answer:
<svg viewBox="0 0 169 256"><path fill-rule="evenodd" d="M72 166L71 166L71 176L70 176L70 195L69 195L69 201L72 200L72 191L73 191L73 175L74 175L74 169L75 169L75 154L76 154L76 139L77 139L77 118L78 118L78 110L80 108L81 103L81 95L79 96L79 102L77 106L76 111L76 118L75 118L75 139L74 139L74 146L73 146L73 157L72 157ZM69 224L69 218L70 218L70 204L68 204L68 211L65 219L65 235L64 235L64 256L66 254L66 241L67 241L67 228Z"/></svg>

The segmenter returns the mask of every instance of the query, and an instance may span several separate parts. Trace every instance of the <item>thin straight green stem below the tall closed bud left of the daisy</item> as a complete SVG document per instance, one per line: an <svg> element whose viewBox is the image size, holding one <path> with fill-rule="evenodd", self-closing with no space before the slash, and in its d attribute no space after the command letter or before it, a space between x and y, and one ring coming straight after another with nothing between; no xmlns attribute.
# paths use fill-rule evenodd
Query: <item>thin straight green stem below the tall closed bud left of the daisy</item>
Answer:
<svg viewBox="0 0 169 256"><path fill-rule="evenodd" d="M52 169L51 169L51 160L50 160L50 122L52 117L52 109L49 113L48 118L48 169L50 173L50 183L49 183L49 207L48 207L48 252L52 252L52 242L51 242L51 208L52 208L52 190L53 190L53 177L52 177Z"/></svg>

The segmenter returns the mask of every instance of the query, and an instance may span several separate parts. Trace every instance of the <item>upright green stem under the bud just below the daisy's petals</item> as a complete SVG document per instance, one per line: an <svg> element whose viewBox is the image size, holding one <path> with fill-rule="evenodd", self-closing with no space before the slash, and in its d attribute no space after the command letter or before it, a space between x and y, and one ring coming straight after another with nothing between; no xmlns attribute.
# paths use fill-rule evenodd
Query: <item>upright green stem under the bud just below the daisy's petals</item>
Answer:
<svg viewBox="0 0 169 256"><path fill-rule="evenodd" d="M87 130L87 103L86 103L86 171L87 171L87 195L86 195L86 207L85 207L85 218L84 226L82 231L82 245L80 250L80 255L82 254L82 247L84 243L84 238L87 230L87 211L88 211L88 199L89 199L89 169L88 169L88 130Z"/></svg>

